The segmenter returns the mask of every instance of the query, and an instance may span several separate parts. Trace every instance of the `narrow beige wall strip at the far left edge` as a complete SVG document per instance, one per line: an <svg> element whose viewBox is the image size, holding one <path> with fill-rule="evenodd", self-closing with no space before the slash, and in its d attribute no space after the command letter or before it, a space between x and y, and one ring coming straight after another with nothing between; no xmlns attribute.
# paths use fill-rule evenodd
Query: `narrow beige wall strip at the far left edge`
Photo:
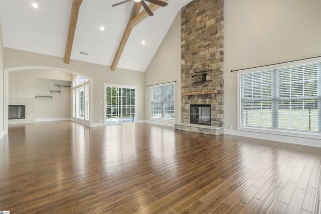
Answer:
<svg viewBox="0 0 321 214"><path fill-rule="evenodd" d="M0 23L0 138L4 132L4 43Z"/></svg>

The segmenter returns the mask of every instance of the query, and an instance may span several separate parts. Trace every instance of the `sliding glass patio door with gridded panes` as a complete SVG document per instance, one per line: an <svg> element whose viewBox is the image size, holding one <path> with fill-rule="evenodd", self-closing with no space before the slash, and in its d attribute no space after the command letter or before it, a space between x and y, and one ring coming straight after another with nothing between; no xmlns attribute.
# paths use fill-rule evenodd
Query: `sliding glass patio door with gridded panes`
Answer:
<svg viewBox="0 0 321 214"><path fill-rule="evenodd" d="M106 125L135 122L135 88L106 87Z"/></svg>

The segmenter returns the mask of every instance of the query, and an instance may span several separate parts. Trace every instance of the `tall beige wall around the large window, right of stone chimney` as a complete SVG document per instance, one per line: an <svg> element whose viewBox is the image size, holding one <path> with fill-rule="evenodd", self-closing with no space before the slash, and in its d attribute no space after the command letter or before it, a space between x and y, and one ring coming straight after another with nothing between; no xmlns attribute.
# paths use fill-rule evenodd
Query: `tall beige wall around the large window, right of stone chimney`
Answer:
<svg viewBox="0 0 321 214"><path fill-rule="evenodd" d="M237 72L321 55L321 1L225 0L224 128L237 129Z"/></svg>

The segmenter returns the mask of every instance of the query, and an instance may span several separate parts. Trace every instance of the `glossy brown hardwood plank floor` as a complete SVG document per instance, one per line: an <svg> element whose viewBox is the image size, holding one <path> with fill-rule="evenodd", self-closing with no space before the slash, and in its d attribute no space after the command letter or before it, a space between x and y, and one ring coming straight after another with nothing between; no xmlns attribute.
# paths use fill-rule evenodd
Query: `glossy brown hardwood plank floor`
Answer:
<svg viewBox="0 0 321 214"><path fill-rule="evenodd" d="M145 123L11 125L11 213L321 213L321 148Z"/></svg>

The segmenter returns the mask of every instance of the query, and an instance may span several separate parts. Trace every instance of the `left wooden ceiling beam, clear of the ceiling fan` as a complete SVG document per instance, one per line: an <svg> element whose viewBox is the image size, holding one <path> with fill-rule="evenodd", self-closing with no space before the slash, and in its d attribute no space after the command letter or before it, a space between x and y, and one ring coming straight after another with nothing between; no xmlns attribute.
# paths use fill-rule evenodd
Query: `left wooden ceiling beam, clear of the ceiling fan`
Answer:
<svg viewBox="0 0 321 214"><path fill-rule="evenodd" d="M64 63L69 64L72 45L74 43L74 37L76 32L76 25L78 20L79 9L83 0L73 0L70 13L69 29L65 49Z"/></svg>

